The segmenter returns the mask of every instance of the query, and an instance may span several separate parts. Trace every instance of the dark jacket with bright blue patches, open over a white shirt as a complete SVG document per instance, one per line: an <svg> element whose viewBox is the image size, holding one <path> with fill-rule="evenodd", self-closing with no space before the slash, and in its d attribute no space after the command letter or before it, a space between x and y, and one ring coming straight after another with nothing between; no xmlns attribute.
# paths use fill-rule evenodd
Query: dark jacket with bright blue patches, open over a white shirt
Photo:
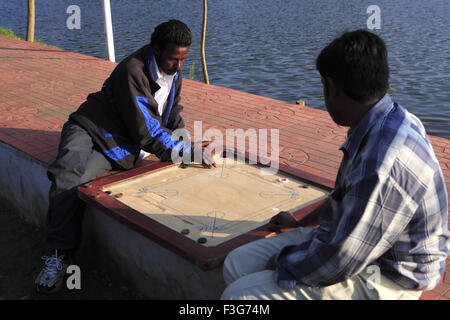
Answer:
<svg viewBox="0 0 450 320"><path fill-rule="evenodd" d="M69 119L92 137L94 144L123 169L133 168L140 149L170 161L172 150L190 153L190 144L172 138L175 129L184 128L183 107L179 104L181 75L167 98L162 116L153 94L160 88L150 76L152 48L146 45L120 62L101 91L91 93Z"/></svg>

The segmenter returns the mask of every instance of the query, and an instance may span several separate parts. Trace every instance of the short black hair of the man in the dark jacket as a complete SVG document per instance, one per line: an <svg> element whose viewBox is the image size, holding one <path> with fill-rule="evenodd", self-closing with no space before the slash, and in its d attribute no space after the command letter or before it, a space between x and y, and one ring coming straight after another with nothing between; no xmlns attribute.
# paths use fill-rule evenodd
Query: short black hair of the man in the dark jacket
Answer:
<svg viewBox="0 0 450 320"><path fill-rule="evenodd" d="M189 47L192 43L191 30L186 24L175 19L161 23L153 31L150 44L152 47L157 45L164 50L169 43L179 47Z"/></svg>

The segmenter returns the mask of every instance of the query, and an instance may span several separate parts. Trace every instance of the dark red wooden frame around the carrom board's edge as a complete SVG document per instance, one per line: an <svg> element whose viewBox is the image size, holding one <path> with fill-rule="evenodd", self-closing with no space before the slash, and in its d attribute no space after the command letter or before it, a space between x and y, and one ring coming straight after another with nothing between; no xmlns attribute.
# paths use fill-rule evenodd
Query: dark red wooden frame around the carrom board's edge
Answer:
<svg viewBox="0 0 450 320"><path fill-rule="evenodd" d="M248 153L244 156L238 155L236 152L233 152L232 155L233 154L235 158L239 156L239 159L243 159L246 162L249 159L255 159L254 157L250 157ZM256 165L261 167L265 166L260 162ZM102 212L135 230L144 237L198 265L203 270L211 270L219 267L226 255L233 249L248 242L267 238L274 234L272 231L267 229L266 225L264 225L231 238L230 240L227 240L217 246L206 247L185 237L180 232L177 232L170 227L167 227L140 213L139 211L136 211L103 191L104 186L123 182L125 180L136 179L139 176L148 174L151 171L160 170L171 166L179 166L179 164L172 162L154 162L131 170L100 176L97 179L78 187L79 197L86 203L100 209ZM327 192L331 191L333 188L334 182L329 179L325 179L307 171L293 168L281 163L278 164L278 172L280 174L292 176L296 179L302 180L305 183L319 187ZM306 218L309 218L308 214L324 201L325 200L323 199L318 200L295 212L292 212L292 214L297 220L307 220Z"/></svg>

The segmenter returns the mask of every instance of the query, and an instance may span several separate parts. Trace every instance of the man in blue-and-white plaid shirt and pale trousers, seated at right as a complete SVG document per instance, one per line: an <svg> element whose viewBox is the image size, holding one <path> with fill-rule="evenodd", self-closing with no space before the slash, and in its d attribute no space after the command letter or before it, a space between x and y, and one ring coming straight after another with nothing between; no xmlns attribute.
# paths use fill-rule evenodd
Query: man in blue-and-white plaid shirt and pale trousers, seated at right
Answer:
<svg viewBox="0 0 450 320"><path fill-rule="evenodd" d="M344 33L317 59L327 110L349 127L320 226L240 247L224 263L222 299L418 299L449 253L447 190L418 118L385 95L389 68L377 35Z"/></svg>

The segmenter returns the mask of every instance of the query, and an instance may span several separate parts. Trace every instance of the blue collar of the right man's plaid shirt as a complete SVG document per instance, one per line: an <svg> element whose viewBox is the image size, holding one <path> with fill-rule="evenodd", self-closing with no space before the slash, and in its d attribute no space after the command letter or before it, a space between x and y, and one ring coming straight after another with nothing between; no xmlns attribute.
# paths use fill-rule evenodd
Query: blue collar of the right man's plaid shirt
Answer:
<svg viewBox="0 0 450 320"><path fill-rule="evenodd" d="M384 118L384 116L392 109L393 105L391 98L388 95L385 95L376 105L367 111L356 128L348 130L347 140L345 140L339 150L343 150L347 152L349 157L353 157L369 130L378 120Z"/></svg>

